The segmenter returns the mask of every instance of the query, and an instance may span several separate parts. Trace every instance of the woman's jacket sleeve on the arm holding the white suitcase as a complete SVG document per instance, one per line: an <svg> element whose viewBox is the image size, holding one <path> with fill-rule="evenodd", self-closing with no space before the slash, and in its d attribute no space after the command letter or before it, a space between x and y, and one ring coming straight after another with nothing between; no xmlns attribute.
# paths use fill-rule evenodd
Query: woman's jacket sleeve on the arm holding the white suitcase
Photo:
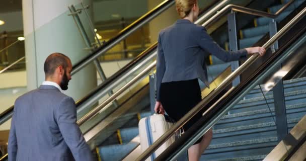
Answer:
<svg viewBox="0 0 306 161"><path fill-rule="evenodd" d="M158 38L158 47L157 47L157 65L156 65L156 90L157 90L157 96L156 100L161 101L161 84L162 84L162 79L165 74L166 70L166 64L165 64L165 56L164 56L164 51L162 48L162 41L161 41L161 35L159 34Z"/></svg>

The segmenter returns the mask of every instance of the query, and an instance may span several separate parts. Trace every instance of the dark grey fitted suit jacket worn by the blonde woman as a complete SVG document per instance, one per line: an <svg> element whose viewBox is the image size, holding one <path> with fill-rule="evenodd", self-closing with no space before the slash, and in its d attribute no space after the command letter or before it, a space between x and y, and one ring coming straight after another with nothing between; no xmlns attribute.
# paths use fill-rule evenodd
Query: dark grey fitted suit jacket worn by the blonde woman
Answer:
<svg viewBox="0 0 306 161"><path fill-rule="evenodd" d="M202 26L180 19L162 30L158 38L157 101L162 83L200 78L209 87L204 58L213 54L225 62L247 58L247 50L227 52Z"/></svg>

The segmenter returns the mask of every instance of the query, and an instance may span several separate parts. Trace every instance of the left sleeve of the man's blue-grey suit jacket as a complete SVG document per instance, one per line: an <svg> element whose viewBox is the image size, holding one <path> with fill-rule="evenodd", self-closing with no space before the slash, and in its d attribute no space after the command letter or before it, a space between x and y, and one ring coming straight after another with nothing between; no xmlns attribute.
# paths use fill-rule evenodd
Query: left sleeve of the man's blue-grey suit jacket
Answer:
<svg viewBox="0 0 306 161"><path fill-rule="evenodd" d="M16 107L16 103L15 103ZM15 161L17 158L17 137L16 137L16 128L15 128L15 119L16 119L16 109L14 109L13 117L11 121L11 129L9 134L9 142L8 142L8 154L9 161Z"/></svg>

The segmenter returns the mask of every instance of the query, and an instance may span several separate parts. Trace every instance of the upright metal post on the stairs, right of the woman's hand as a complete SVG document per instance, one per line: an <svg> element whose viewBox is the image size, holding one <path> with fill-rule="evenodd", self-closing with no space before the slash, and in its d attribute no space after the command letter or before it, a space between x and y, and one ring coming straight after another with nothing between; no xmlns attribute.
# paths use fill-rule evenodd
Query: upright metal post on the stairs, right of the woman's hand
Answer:
<svg viewBox="0 0 306 161"><path fill-rule="evenodd" d="M269 23L270 37L277 33L277 24L274 19ZM278 42L276 41L271 46L272 53L278 49ZM281 65L279 66L281 68ZM273 99L275 107L275 118L276 118L276 128L277 128L277 138L278 141L281 141L287 134L287 116L286 116L286 105L285 105L285 96L284 96L284 87L283 81L279 81L276 86L273 88Z"/></svg>

